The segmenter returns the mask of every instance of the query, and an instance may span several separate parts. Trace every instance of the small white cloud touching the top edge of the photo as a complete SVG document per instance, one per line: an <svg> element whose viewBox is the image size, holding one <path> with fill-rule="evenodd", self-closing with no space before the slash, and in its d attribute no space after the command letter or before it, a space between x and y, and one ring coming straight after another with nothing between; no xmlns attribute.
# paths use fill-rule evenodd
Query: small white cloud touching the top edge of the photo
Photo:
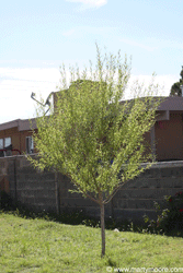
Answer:
<svg viewBox="0 0 183 273"><path fill-rule="evenodd" d="M81 3L79 11L88 9L99 9L100 7L107 3L107 0L66 0L67 2Z"/></svg>

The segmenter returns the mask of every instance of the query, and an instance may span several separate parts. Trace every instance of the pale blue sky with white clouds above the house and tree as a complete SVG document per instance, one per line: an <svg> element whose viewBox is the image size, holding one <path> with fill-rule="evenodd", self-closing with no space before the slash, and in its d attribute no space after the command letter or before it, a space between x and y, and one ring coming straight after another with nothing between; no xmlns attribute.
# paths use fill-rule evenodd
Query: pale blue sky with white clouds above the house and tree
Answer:
<svg viewBox="0 0 183 273"><path fill-rule="evenodd" d="M32 92L57 91L59 67L82 69L103 51L131 57L131 80L161 95L183 66L182 0L8 0L0 8L0 123L35 116Z"/></svg>

